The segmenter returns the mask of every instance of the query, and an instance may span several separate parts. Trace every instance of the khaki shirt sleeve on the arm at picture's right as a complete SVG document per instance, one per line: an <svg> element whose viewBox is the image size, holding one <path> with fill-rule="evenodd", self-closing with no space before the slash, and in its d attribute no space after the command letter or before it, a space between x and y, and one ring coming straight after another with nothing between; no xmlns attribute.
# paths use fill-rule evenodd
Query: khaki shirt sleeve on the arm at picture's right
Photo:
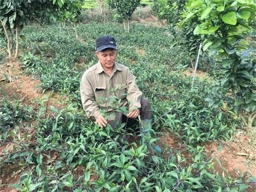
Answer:
<svg viewBox="0 0 256 192"><path fill-rule="evenodd" d="M131 74L131 71L127 70L127 96L126 99L129 102L129 105L134 105L137 108L140 108L140 99L142 97L142 92L139 90L136 84L136 77Z"/></svg>

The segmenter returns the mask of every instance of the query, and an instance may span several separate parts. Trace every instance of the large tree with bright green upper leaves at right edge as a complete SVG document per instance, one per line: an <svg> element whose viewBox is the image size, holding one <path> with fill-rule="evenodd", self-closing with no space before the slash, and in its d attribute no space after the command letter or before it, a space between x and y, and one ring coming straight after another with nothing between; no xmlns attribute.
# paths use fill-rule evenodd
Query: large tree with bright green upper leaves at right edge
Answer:
<svg viewBox="0 0 256 192"><path fill-rule="evenodd" d="M206 38L204 51L216 55L226 69L218 87L233 110L247 127L256 118L256 61L249 57L251 49L245 35L252 30L248 21L255 20L253 0L189 0L184 21L200 21L194 35ZM214 101L212 100L212 105ZM244 117L247 117L244 118Z"/></svg>

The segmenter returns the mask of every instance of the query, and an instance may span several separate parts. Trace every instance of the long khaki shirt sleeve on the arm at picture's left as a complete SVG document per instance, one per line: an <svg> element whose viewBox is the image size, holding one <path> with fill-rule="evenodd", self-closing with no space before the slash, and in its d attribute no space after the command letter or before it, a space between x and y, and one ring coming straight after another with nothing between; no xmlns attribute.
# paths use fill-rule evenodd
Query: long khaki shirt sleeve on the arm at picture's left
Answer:
<svg viewBox="0 0 256 192"><path fill-rule="evenodd" d="M87 118L94 118L99 115L100 110L95 101L93 87L88 80L87 73L84 73L80 83L81 101Z"/></svg>

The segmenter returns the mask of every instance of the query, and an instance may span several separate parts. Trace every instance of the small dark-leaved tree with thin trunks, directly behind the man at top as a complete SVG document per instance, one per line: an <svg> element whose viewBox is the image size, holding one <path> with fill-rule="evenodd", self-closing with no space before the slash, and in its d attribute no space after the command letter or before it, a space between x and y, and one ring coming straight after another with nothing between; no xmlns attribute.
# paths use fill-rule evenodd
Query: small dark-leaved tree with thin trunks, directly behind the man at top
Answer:
<svg viewBox="0 0 256 192"><path fill-rule="evenodd" d="M136 10L137 6L140 5L140 0L108 0L108 5L111 9L116 9L116 12L122 20L128 20L129 30L129 20L131 20L131 15Z"/></svg>

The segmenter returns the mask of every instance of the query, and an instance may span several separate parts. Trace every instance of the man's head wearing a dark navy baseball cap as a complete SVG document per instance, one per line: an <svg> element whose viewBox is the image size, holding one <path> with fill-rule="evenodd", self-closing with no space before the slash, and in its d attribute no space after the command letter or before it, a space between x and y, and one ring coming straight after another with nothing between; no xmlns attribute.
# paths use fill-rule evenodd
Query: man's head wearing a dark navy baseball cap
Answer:
<svg viewBox="0 0 256 192"><path fill-rule="evenodd" d="M104 68L111 69L116 61L116 41L111 36L102 36L96 40L96 55Z"/></svg>

